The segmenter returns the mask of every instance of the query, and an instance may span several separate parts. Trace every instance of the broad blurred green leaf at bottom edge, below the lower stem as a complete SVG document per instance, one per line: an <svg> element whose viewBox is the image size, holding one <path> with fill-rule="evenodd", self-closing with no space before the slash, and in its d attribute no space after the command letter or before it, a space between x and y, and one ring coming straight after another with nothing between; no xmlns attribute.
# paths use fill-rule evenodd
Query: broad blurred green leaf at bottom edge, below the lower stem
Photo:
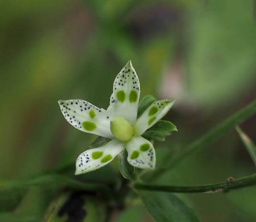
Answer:
<svg viewBox="0 0 256 222"><path fill-rule="evenodd" d="M200 222L193 209L172 193L141 192L141 198L156 222Z"/></svg>

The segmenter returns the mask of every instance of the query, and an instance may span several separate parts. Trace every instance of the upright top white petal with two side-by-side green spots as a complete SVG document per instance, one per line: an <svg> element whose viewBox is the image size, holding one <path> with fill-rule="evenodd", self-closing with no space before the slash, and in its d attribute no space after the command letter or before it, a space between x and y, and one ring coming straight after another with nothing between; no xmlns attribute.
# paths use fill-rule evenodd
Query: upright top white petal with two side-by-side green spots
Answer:
<svg viewBox="0 0 256 222"><path fill-rule="evenodd" d="M139 79L131 61L128 61L114 81L107 111L112 118L121 116L133 124L137 119L139 95Z"/></svg>

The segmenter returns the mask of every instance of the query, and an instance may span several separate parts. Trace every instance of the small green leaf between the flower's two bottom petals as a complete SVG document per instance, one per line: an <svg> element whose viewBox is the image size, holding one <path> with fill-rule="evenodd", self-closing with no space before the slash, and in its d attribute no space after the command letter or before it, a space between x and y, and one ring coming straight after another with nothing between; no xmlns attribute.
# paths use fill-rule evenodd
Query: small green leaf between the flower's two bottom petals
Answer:
<svg viewBox="0 0 256 222"><path fill-rule="evenodd" d="M126 150L122 151L117 156L117 164L122 176L128 180L134 180L136 178L136 169L130 165L127 161L128 153Z"/></svg>

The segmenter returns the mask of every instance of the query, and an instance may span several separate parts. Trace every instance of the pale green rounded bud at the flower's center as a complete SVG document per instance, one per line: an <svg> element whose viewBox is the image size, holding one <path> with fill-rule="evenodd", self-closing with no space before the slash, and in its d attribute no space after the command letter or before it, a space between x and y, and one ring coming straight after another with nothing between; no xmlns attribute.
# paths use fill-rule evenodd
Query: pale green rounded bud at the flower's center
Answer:
<svg viewBox="0 0 256 222"><path fill-rule="evenodd" d="M110 130L118 140L126 142L134 135L133 126L123 117L115 117L110 122Z"/></svg>

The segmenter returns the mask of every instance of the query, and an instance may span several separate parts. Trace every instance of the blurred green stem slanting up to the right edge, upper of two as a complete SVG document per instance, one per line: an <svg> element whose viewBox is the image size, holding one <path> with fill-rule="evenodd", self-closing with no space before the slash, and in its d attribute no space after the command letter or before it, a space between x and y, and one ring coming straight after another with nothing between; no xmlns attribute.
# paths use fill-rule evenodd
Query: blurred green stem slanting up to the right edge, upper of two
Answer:
<svg viewBox="0 0 256 222"><path fill-rule="evenodd" d="M222 135L224 135L224 132L234 128L236 125L244 122L246 119L250 118L256 113L256 100L247 105L245 108L237 111L235 114L221 122L219 125L217 125L213 130L209 131L208 133L204 134L199 139L192 142L190 145L188 145L183 152L178 154L176 157L174 157L171 162L170 158L168 158L168 162L163 163L162 165L165 166L165 168L160 168L158 170L155 170L153 172L152 177L156 179L160 175L162 175L167 170L173 168L178 163L180 163L184 158L189 156L195 151L199 151L202 148L206 148L210 144L212 144L214 141L219 139Z"/></svg>

